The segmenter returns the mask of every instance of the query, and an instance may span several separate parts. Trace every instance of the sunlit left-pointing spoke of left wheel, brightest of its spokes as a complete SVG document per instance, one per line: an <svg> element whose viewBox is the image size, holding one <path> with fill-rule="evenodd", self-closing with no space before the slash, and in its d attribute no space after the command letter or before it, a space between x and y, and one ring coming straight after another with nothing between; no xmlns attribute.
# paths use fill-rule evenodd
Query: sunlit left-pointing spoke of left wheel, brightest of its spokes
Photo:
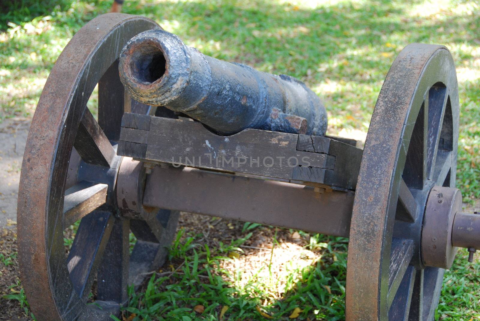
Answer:
<svg viewBox="0 0 480 321"><path fill-rule="evenodd" d="M82 181L66 190L63 201L63 229L105 204L107 189L107 184Z"/></svg>

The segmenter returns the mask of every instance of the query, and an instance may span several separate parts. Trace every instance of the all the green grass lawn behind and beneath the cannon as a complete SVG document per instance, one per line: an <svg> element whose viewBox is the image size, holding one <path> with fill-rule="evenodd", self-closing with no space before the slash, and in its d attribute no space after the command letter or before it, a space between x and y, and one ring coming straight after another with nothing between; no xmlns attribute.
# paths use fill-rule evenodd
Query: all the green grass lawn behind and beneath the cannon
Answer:
<svg viewBox="0 0 480 321"><path fill-rule="evenodd" d="M0 4L0 121L33 116L62 48L111 5L99 0L14 2ZM411 42L447 46L460 91L457 186L464 202L478 204L478 1L126 0L123 12L154 19L204 54L299 78L324 98L328 133L359 140L365 139L398 52ZM290 320L296 308L299 320L344 318L346 239L297 233L303 240L300 252L305 250L298 261L308 264L294 262L283 267L285 273L275 274L282 242L270 235L274 250L249 274L241 268L246 256L241 246L252 238L249 233L271 228L247 224L232 230L236 238L213 243L205 242L202 233L179 234L169 256L176 272L153 274L144 292L132 292L125 320L132 314L132 320ZM284 240L295 234L278 233ZM461 251L446 273L437 318L480 320L479 270L479 260L466 264L466 251ZM193 310L199 306L202 314Z"/></svg>

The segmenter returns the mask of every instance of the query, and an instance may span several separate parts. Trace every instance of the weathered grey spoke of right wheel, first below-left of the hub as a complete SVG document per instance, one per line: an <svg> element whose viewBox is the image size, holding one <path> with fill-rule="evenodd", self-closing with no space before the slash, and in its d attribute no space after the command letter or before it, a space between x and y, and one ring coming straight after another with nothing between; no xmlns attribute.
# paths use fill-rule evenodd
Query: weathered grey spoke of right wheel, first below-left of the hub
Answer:
<svg viewBox="0 0 480 321"><path fill-rule="evenodd" d="M388 273L388 306L392 304L400 281L402 281L408 264L413 256L413 241L410 239L393 238L392 254L390 256L390 271Z"/></svg>

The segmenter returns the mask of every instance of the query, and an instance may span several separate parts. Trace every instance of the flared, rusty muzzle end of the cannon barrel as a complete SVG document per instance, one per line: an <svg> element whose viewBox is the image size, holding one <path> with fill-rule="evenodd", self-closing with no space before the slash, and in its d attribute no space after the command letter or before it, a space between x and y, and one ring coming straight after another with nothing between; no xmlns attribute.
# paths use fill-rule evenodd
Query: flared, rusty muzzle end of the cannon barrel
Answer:
<svg viewBox="0 0 480 321"><path fill-rule="evenodd" d="M129 94L146 103L164 106L189 83L191 59L178 36L164 30L147 30L134 36L120 54L120 79ZM178 68L181 66L182 68ZM148 95L139 94L140 91Z"/></svg>

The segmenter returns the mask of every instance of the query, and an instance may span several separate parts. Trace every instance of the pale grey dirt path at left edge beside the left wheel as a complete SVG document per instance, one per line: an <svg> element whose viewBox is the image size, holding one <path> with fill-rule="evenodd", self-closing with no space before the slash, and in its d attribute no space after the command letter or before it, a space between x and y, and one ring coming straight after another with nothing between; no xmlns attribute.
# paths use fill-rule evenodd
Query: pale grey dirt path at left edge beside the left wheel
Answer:
<svg viewBox="0 0 480 321"><path fill-rule="evenodd" d="M0 227L17 221L20 169L30 119L5 119L0 124Z"/></svg>

